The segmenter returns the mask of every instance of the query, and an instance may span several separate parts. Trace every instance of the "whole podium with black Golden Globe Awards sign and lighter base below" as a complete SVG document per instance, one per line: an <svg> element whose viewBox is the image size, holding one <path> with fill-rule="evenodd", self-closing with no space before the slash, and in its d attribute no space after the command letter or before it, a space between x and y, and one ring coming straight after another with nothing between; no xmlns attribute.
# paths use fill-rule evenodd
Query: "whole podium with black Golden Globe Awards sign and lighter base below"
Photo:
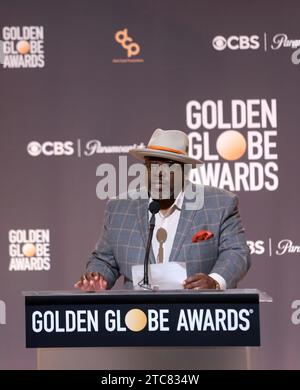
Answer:
<svg viewBox="0 0 300 390"><path fill-rule="evenodd" d="M39 369L245 369L260 345L258 290L25 292Z"/></svg>

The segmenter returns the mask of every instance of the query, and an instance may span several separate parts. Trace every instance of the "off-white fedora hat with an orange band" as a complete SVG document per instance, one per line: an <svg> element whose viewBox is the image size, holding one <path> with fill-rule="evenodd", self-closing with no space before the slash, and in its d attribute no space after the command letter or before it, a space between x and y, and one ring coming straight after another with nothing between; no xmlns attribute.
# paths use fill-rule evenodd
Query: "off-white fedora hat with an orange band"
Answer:
<svg viewBox="0 0 300 390"><path fill-rule="evenodd" d="M135 148L129 153L138 160L145 157L160 157L184 164L203 164L203 161L189 157L189 137L180 130L156 129L146 148Z"/></svg>

